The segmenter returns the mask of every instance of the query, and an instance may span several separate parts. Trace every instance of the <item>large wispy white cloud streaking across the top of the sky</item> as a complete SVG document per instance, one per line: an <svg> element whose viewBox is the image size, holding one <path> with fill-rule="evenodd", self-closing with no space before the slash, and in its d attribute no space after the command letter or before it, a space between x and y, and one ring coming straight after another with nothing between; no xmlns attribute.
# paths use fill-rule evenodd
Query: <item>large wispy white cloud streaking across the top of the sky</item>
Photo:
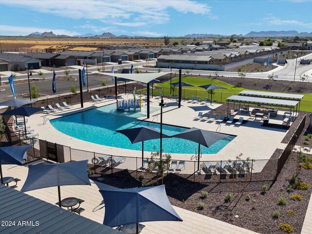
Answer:
<svg viewBox="0 0 312 234"><path fill-rule="evenodd" d="M167 23L170 20L169 9L217 19L211 15L210 6L193 0L1 0L0 4L71 19L100 20L133 27Z"/></svg>

